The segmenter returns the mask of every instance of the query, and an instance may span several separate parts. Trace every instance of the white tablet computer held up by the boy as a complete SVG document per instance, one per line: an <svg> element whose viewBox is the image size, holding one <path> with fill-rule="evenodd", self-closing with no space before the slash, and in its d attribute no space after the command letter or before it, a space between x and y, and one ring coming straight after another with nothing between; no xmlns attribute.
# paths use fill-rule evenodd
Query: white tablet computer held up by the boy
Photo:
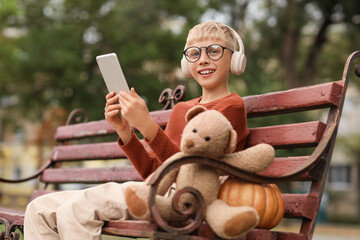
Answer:
<svg viewBox="0 0 360 240"><path fill-rule="evenodd" d="M109 92L118 93L120 90L130 92L115 53L97 56L96 61Z"/></svg>

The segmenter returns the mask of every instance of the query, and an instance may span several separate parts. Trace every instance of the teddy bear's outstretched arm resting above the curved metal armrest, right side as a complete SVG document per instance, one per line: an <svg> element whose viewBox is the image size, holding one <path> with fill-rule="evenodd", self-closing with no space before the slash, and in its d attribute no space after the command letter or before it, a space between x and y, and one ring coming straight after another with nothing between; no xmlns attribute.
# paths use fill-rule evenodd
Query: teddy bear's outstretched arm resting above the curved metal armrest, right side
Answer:
<svg viewBox="0 0 360 240"><path fill-rule="evenodd" d="M226 154L220 159L242 170L257 173L268 168L274 156L274 148L269 144L261 143L240 152Z"/></svg>

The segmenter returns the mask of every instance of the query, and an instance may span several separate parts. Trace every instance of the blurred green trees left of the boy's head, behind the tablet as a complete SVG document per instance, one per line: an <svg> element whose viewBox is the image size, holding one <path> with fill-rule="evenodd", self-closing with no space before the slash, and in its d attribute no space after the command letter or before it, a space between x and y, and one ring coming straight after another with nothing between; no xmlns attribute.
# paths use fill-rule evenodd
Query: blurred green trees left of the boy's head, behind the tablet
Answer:
<svg viewBox="0 0 360 240"><path fill-rule="evenodd" d="M161 90L176 85L185 30L204 11L190 0L2 2L2 28L24 32L11 39L12 48L0 49L9 52L1 60L3 96L19 96L17 109L31 119L57 106L102 117L106 88L95 57L109 52L118 54L129 85L150 109L160 108ZM17 64L9 64L11 58Z"/></svg>

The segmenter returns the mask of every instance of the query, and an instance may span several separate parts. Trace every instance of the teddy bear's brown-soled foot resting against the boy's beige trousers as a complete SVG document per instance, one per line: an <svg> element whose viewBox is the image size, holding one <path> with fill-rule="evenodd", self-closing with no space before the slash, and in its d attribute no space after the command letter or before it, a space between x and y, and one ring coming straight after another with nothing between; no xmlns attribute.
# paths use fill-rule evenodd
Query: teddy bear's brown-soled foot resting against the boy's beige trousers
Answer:
<svg viewBox="0 0 360 240"><path fill-rule="evenodd" d="M125 189L126 205L130 214L136 219L150 219L149 190L150 188L144 183L134 184Z"/></svg>

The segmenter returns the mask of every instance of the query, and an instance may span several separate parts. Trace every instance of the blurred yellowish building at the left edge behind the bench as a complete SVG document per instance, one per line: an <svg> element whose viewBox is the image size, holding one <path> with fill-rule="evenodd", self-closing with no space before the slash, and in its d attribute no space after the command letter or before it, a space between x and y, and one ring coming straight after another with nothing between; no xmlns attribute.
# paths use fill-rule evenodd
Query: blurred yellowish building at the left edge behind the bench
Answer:
<svg viewBox="0 0 360 240"><path fill-rule="evenodd" d="M51 146L55 144L56 127L65 123L66 116L64 109L53 108L45 112L41 122L22 120L21 127L1 126L0 177L21 179L34 174L49 159ZM0 183L0 207L24 208L37 185L36 180Z"/></svg>

